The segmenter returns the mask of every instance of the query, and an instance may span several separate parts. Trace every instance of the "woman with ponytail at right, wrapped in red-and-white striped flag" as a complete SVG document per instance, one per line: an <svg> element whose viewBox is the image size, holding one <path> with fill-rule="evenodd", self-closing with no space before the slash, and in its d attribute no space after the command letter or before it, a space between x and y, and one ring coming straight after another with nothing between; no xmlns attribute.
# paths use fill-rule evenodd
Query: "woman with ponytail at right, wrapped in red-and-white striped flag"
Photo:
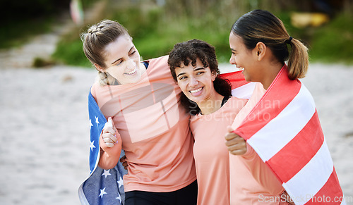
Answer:
<svg viewBox="0 0 353 205"><path fill-rule="evenodd" d="M257 82L225 137L230 203L287 203L286 192L298 204L342 197L315 104L299 80L309 66L306 46L263 10L234 23L229 46L229 62ZM239 139L246 139L245 152L237 151Z"/></svg>

